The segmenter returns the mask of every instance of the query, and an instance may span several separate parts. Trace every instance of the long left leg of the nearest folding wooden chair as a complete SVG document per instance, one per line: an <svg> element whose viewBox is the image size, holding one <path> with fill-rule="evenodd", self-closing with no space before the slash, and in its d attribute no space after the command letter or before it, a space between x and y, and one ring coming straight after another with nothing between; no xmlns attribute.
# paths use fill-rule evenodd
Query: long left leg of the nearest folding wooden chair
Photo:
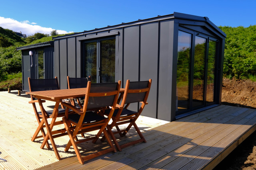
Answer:
<svg viewBox="0 0 256 170"><path fill-rule="evenodd" d="M67 124L66 118L63 117L62 120L63 120L63 122L64 122L64 126L65 126L65 128L66 128L66 130L67 130L67 132L68 132L68 137L69 137L69 139L70 139L70 140L68 141L68 143L71 143L72 146L74 147L74 150L75 150L75 152L76 152L76 156L77 156L77 158L78 158L78 161L79 161L81 164L84 164L84 160L82 159L82 156L81 156L81 154L80 154L80 152L79 152L79 150L78 150L78 147L77 147L77 145L76 145L76 141L75 141L75 139L74 139L74 136L76 136L76 135L73 135L72 132L70 131L69 125ZM68 149L69 149L69 148L70 148L70 147L68 147ZM68 151L68 149L66 150L66 148L65 148L65 151Z"/></svg>

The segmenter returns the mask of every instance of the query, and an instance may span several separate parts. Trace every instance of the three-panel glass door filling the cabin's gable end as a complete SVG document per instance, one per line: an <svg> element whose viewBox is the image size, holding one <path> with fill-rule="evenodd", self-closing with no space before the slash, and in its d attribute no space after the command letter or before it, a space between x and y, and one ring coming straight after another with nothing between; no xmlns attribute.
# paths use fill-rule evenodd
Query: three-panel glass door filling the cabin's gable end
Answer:
<svg viewBox="0 0 256 170"><path fill-rule="evenodd" d="M176 115L214 104L217 42L194 31L179 31Z"/></svg>

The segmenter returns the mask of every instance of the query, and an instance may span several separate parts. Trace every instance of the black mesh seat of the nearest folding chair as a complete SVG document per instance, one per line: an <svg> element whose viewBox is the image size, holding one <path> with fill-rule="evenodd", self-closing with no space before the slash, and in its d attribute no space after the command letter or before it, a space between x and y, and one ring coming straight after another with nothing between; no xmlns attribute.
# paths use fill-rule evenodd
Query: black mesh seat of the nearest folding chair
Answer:
<svg viewBox="0 0 256 170"><path fill-rule="evenodd" d="M78 114L72 114L68 116L68 119L74 123L78 123L80 119L80 115ZM92 111L86 111L85 116L84 116L84 121L83 123L92 123L95 121L101 121L103 119L107 119L106 117L100 116L97 113L94 113Z"/></svg>

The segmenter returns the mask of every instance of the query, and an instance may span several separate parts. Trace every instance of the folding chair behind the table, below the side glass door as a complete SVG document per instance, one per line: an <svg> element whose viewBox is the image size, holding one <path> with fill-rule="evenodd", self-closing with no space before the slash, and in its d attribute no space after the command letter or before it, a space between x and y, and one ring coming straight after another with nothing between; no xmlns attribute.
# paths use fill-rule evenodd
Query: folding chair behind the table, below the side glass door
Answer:
<svg viewBox="0 0 256 170"><path fill-rule="evenodd" d="M87 86L87 82L91 81L91 76L88 76L88 78L70 78L69 76L67 76L67 80L68 80L68 89L71 88L86 88ZM76 98L76 101L78 103L78 105L80 106L80 108L82 108L82 104L80 103L80 99ZM73 106L76 106L74 98L71 98L71 104Z"/></svg>

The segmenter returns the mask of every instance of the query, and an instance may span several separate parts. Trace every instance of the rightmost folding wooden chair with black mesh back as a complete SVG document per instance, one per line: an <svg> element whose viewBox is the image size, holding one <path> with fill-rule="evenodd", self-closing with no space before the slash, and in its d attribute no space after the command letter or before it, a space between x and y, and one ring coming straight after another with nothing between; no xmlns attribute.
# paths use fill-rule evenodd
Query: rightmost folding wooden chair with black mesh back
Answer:
<svg viewBox="0 0 256 170"><path fill-rule="evenodd" d="M138 117L142 113L142 110L144 109L145 105L148 104L147 99L148 99L148 94L150 92L151 82L152 82L152 79L149 79L148 81L139 81L139 82L130 82L130 80L126 81L126 87L124 91L124 96L122 98L122 103L120 105L117 105L112 115L112 123L109 125L109 127L110 129L112 129L113 127L116 127L117 131L114 132L114 134L119 133L119 135L123 137L129 131L129 129L132 126L134 126L138 135L140 136L140 139L136 141L131 141L129 143L125 143L123 145L119 145L116 139L114 138L113 139L114 144L116 145L116 148L119 151L121 151L122 148L124 147L128 147L130 145L134 145L140 142L146 142L146 139L143 137L135 121L138 119ZM136 103L136 102L142 103L138 111L132 111L127 109L127 107L131 103ZM110 113L110 109L107 109L105 110L104 114L109 115L109 113ZM126 129L120 130L118 126L126 123L129 123ZM112 130L110 130L110 133L113 133ZM104 141L104 139L105 137L102 137L101 141Z"/></svg>

